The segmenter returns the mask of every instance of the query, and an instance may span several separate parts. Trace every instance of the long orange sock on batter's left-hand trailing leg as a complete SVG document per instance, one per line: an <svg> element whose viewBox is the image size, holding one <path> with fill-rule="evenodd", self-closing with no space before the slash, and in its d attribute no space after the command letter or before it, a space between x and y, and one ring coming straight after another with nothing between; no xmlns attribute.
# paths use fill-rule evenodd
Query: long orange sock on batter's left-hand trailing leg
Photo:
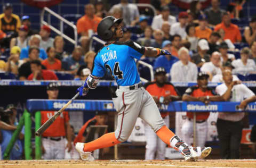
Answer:
<svg viewBox="0 0 256 168"><path fill-rule="evenodd" d="M115 137L115 132L106 133L98 139L84 144L84 152L92 152L96 149L106 148L121 143Z"/></svg>

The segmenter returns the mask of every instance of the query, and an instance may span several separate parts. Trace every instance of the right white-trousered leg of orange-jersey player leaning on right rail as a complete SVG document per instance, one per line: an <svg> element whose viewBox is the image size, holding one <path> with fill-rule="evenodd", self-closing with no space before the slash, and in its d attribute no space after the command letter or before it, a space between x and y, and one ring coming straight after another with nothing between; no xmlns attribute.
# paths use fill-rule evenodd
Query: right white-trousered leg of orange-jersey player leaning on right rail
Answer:
<svg viewBox="0 0 256 168"><path fill-rule="evenodd" d="M196 145L204 146L208 133L208 125L207 121L202 123L196 123Z"/></svg>

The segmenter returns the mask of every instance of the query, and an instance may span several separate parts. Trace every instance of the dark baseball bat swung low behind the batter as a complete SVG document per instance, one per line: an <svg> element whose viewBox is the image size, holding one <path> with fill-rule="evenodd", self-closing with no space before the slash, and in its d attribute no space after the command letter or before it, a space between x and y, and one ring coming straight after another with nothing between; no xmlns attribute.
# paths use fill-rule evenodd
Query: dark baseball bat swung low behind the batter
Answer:
<svg viewBox="0 0 256 168"><path fill-rule="evenodd" d="M50 127L50 125L57 119L57 117L61 114L63 110L65 110L70 103L73 102L74 99L76 99L79 96L79 92L71 98L67 104L65 104L56 114L54 114L50 119L48 119L35 133L36 136L41 136L42 133Z"/></svg>

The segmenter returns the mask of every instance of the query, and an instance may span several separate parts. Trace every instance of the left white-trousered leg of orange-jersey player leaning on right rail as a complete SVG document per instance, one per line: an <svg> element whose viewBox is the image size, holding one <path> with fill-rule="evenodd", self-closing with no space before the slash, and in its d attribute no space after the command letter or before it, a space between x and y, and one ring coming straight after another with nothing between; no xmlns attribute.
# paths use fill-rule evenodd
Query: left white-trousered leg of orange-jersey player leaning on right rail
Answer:
<svg viewBox="0 0 256 168"><path fill-rule="evenodd" d="M191 145L193 141L191 141L191 137L193 135L193 122L186 119L185 123L183 123L181 128L182 138L188 144Z"/></svg>

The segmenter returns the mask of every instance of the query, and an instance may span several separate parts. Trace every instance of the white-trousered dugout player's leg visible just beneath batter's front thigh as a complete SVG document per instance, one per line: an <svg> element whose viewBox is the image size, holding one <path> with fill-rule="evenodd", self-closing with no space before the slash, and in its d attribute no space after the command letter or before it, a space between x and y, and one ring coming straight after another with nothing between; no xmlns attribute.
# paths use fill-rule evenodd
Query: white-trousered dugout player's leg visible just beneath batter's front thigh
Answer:
<svg viewBox="0 0 256 168"><path fill-rule="evenodd" d="M146 136L146 153L145 160L155 159L155 153L157 149L157 136L151 127L145 123L145 136Z"/></svg>

